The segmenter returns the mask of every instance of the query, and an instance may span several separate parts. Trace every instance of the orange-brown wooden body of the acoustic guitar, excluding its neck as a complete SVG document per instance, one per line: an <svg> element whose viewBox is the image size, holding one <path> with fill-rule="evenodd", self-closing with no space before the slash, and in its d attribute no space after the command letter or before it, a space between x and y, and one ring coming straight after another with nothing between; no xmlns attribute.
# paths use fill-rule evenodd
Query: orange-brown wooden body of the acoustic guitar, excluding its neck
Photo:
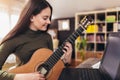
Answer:
<svg viewBox="0 0 120 80"><path fill-rule="evenodd" d="M44 63L51 55L52 51L46 48L38 49L35 51L31 59L29 60L28 63L11 69L10 73L31 73L31 72L36 72L38 66L40 66L42 63ZM64 64L61 60L59 60L53 68L50 70L48 75L46 76L47 80L58 80L58 77L64 68Z"/></svg>

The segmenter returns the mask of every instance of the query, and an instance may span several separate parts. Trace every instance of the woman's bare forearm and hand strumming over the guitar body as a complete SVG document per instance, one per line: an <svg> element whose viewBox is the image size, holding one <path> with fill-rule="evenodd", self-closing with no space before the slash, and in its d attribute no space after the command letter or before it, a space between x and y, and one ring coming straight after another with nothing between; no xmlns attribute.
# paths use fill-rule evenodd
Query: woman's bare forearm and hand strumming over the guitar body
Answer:
<svg viewBox="0 0 120 80"><path fill-rule="evenodd" d="M24 73L24 74L16 74L14 80L45 80L45 77L38 73Z"/></svg>

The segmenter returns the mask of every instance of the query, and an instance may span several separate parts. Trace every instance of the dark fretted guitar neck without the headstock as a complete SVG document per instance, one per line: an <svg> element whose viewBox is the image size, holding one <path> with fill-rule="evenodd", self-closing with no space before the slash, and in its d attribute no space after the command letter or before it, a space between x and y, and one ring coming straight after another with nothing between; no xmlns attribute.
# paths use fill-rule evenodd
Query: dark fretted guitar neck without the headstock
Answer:
<svg viewBox="0 0 120 80"><path fill-rule="evenodd" d="M63 42L63 44L61 46L59 46L58 49L56 49L53 52L53 54L47 59L47 61L44 64L49 65L49 69L51 69L57 63L57 61L61 58L61 56L64 54L63 47L64 47L65 43L70 42L71 44L73 44L74 41L76 40L76 38L78 36L80 36L83 31L84 31L84 29L82 27L79 27L75 32L73 32L72 35L70 35Z"/></svg>

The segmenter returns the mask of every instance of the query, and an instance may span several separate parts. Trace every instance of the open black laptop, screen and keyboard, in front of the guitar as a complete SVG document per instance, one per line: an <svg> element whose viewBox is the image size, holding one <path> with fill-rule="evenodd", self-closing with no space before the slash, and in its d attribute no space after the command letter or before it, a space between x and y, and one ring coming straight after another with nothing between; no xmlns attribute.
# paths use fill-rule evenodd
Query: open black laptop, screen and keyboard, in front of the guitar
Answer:
<svg viewBox="0 0 120 80"><path fill-rule="evenodd" d="M98 69L64 68L58 80L120 80L120 33L110 33Z"/></svg>

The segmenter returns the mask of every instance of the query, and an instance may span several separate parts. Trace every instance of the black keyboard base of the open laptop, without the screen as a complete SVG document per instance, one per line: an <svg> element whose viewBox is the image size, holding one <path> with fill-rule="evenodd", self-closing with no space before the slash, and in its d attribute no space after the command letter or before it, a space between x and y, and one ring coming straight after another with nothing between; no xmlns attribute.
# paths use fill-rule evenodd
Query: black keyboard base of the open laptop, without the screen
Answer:
<svg viewBox="0 0 120 80"><path fill-rule="evenodd" d="M66 68L62 71L59 80L111 80L101 75L99 69Z"/></svg>

